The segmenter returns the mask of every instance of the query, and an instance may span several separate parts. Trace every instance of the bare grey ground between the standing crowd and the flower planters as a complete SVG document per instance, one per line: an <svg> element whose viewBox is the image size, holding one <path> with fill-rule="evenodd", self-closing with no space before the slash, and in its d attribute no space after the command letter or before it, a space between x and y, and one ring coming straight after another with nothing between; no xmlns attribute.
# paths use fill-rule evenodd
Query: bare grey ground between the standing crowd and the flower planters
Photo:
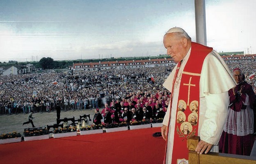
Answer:
<svg viewBox="0 0 256 164"><path fill-rule="evenodd" d="M101 112L101 109L100 109ZM90 114L91 119L94 116L94 109L86 109L86 110L75 110L75 111L67 111L67 112L61 112L60 118L73 118L75 116L75 119L79 119L80 115L84 114ZM7 132L13 132L17 131L21 134L24 131L24 128L32 128L31 123L22 125L23 122L26 122L28 120L28 114L11 114L11 115L2 115L0 116L0 134L7 133ZM33 122L36 128L38 127L46 127L46 125L53 125L56 122L57 114L56 111L50 112L50 113L34 113L33 114ZM89 122L91 124L92 121Z"/></svg>

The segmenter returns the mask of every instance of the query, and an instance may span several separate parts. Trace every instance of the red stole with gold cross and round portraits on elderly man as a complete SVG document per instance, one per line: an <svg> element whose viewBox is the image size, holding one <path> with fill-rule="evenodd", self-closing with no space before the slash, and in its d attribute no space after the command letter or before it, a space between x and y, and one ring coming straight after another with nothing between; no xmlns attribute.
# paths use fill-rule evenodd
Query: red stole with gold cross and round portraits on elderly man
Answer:
<svg viewBox="0 0 256 164"><path fill-rule="evenodd" d="M190 57L182 72L179 88L171 164L188 160L187 139L198 135L200 74L203 61L212 50L213 48L198 43L191 44ZM175 80L176 77L174 82Z"/></svg>

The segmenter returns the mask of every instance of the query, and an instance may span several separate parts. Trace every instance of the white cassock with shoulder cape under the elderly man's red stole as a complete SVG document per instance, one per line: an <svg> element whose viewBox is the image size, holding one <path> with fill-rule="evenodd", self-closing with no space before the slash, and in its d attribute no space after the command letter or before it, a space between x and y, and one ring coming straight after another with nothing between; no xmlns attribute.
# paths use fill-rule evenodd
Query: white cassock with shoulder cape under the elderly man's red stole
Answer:
<svg viewBox="0 0 256 164"><path fill-rule="evenodd" d="M187 55L181 62L181 66L178 71L176 80L178 84L174 87L172 109L170 110L170 105L165 114L163 120L163 125L168 126L169 114L171 111L171 120L169 125L168 134L168 146L166 154L166 162L171 164L173 142L174 142L174 132L175 132L175 121L176 112L178 104L179 87L181 83L181 76L183 69L187 63L190 56L191 48L187 52ZM195 63L196 64L196 63ZM163 86L171 91L172 82L174 79L174 74L176 67L173 69L167 80L165 80ZM206 141L209 144L217 145L220 136L223 131L224 123L226 122L228 107L229 107L229 89L235 87L236 82L233 79L233 75L230 73L229 68L226 66L223 59L214 50L210 52L202 66L201 77L199 82L199 127L198 135L200 139ZM217 148L218 151L218 148Z"/></svg>

